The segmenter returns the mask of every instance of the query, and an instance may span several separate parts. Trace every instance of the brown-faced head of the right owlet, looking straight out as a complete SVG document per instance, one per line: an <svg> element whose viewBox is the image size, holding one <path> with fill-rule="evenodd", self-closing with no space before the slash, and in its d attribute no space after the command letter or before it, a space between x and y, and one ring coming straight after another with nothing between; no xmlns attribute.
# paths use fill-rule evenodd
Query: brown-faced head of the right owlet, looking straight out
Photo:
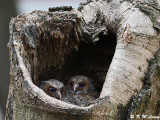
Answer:
<svg viewBox="0 0 160 120"><path fill-rule="evenodd" d="M69 79L67 83L67 90L71 94L86 94L94 90L92 80L84 75L76 75Z"/></svg>

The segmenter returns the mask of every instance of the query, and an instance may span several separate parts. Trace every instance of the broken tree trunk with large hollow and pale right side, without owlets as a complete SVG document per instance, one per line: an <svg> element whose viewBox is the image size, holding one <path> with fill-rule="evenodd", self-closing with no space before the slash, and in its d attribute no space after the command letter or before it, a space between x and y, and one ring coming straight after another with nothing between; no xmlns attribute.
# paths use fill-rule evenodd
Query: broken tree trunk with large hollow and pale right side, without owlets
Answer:
<svg viewBox="0 0 160 120"><path fill-rule="evenodd" d="M13 18L6 119L160 115L159 10L158 1L93 0L78 10L52 8ZM39 88L43 80L66 83L76 74L91 77L100 92L89 106L51 98Z"/></svg>

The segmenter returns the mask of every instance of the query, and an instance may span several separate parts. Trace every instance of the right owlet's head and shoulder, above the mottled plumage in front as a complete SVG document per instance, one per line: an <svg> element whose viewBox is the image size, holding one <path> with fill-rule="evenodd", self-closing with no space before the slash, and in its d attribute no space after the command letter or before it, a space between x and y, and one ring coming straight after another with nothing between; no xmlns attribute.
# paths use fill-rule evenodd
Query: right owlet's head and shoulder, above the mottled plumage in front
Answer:
<svg viewBox="0 0 160 120"><path fill-rule="evenodd" d="M67 86L67 96L88 95L97 98L99 93L95 91L92 79L87 76L77 75L69 79Z"/></svg>

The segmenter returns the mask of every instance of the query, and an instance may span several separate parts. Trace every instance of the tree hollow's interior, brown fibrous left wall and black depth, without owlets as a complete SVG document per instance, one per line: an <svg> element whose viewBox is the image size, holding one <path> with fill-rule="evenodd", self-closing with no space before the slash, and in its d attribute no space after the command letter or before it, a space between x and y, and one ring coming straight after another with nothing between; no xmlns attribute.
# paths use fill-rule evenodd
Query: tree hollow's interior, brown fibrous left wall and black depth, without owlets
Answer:
<svg viewBox="0 0 160 120"><path fill-rule="evenodd" d="M80 32L74 15L49 14L46 19L21 24L19 51L32 82L40 87L42 81L57 79L66 85L72 76L85 75L100 94L115 52L116 35L100 32L99 40L92 42Z"/></svg>

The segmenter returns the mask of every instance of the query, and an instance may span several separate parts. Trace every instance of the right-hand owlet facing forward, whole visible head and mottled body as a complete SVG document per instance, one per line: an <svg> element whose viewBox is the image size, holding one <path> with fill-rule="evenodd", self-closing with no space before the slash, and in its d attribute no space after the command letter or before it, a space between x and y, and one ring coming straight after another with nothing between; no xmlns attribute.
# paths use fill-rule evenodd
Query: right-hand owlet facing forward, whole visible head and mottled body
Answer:
<svg viewBox="0 0 160 120"><path fill-rule="evenodd" d="M79 106L86 106L89 101L99 96L92 84L92 79L83 75L71 77L66 89L67 97L64 101Z"/></svg>

